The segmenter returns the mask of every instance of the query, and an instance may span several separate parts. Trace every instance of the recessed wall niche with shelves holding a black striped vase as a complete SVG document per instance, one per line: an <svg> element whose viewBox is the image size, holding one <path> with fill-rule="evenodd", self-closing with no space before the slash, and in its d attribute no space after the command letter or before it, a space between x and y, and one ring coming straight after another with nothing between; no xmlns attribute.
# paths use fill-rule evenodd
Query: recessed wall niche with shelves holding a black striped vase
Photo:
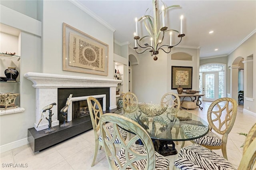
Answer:
<svg viewBox="0 0 256 170"><path fill-rule="evenodd" d="M20 30L1 24L0 41L0 115L23 112L20 108ZM6 70L8 69L9 70ZM7 73L7 75L5 74ZM12 76L12 77L9 77ZM9 79L8 79L9 78ZM14 93L14 94L10 94ZM16 98L14 98L16 97Z"/></svg>

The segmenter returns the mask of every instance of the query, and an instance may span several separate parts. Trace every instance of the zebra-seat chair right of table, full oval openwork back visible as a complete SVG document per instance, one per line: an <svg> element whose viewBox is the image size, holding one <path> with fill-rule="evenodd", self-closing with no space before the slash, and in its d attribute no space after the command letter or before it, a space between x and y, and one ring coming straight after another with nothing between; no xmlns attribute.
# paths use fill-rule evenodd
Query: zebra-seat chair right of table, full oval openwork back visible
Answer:
<svg viewBox="0 0 256 170"><path fill-rule="evenodd" d="M228 160L226 144L228 134L230 133L236 120L237 102L234 99L224 97L212 102L207 112L209 123L209 132L201 137L192 140L193 143L200 144L208 149L221 149L223 157ZM197 130L193 125L182 125L183 134L190 136L191 131ZM212 132L214 130L214 132ZM216 133L222 135L216 134ZM182 144L183 147L184 143Z"/></svg>

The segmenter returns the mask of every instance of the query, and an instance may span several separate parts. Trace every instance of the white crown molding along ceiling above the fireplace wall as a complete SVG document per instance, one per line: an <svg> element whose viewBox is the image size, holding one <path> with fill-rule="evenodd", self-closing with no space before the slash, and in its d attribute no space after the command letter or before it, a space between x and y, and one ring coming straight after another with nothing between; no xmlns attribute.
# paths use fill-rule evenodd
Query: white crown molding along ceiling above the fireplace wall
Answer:
<svg viewBox="0 0 256 170"><path fill-rule="evenodd" d="M115 32L116 29L112 26L110 26L110 24L108 24L106 21L104 21L102 18L100 18L99 16L97 16L94 12L92 12L91 10L89 10L89 8L85 7L84 5L82 5L80 2L78 2L77 0L69 0L69 2L71 2L72 4L74 4L75 6L77 6L78 8L80 8L82 11L86 12L86 14L88 14L89 16L91 16L92 18L94 18L95 20L97 20L98 22L100 22L100 24L104 25L106 28L108 28L109 30L111 30L112 32Z"/></svg>

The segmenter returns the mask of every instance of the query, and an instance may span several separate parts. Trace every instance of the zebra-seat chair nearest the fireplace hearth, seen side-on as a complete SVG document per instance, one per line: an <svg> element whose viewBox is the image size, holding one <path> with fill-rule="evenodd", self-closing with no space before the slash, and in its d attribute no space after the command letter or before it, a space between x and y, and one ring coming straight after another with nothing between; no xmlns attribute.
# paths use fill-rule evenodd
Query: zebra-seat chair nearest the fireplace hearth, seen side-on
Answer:
<svg viewBox="0 0 256 170"><path fill-rule="evenodd" d="M95 150L94 150L94 156L93 156L92 165L91 165L91 166L94 166L94 163L98 154L98 149L101 149L101 146L103 146L102 136L100 134L100 123L99 123L100 117L103 115L103 111L102 111L100 102L94 97L88 97L87 104L90 112L92 128L94 131L94 138L95 138ZM114 135L113 124L106 126L106 128L108 129L110 136L113 136ZM120 133L122 135L122 138L126 140L127 132L125 130L120 129ZM120 140L116 138L114 143L118 146L120 144Z"/></svg>

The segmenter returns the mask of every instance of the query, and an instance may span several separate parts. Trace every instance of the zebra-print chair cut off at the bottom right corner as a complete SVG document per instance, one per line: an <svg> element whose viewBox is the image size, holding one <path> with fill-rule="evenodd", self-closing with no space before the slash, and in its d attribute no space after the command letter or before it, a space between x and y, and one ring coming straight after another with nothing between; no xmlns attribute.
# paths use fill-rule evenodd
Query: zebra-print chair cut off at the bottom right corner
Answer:
<svg viewBox="0 0 256 170"><path fill-rule="evenodd" d="M242 160L238 170L255 170L256 168L256 123L248 132ZM198 144L182 148L178 158L174 160L173 170L236 170L236 168L222 156Z"/></svg>

